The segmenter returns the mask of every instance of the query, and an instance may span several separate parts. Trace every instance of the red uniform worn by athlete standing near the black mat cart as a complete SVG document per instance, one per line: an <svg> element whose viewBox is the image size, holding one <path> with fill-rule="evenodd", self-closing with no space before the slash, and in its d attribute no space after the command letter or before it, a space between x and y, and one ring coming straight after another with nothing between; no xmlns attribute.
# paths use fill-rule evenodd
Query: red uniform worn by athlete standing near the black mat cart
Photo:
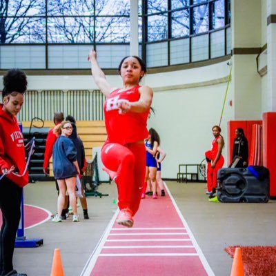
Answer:
<svg viewBox="0 0 276 276"><path fill-rule="evenodd" d="M215 161L215 158L217 157L217 152L219 151L219 145L217 144L217 139L219 139L219 136L215 138L212 142L212 148L211 148L211 160L212 162ZM208 191L211 191L213 188L217 188L217 172L220 168L224 166L224 157L220 155L219 160L217 161L217 164L215 165L215 168L210 167L210 178L211 180L208 181L207 179L207 188ZM209 176L209 173L208 173ZM210 187L208 187L210 185Z"/></svg>

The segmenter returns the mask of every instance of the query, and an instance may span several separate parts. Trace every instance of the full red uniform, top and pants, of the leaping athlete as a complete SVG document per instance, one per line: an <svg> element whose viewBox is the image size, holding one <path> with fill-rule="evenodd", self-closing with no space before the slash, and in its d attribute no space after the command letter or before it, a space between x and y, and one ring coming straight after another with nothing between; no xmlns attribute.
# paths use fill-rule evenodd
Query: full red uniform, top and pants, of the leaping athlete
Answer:
<svg viewBox="0 0 276 276"><path fill-rule="evenodd" d="M108 138L101 149L101 160L113 172L110 176L117 176L119 209L130 208L132 215L139 208L146 174L144 139L148 137L146 123L150 110L144 113L120 114L118 102L139 101L139 87L123 92L117 89L108 95L103 105Z"/></svg>

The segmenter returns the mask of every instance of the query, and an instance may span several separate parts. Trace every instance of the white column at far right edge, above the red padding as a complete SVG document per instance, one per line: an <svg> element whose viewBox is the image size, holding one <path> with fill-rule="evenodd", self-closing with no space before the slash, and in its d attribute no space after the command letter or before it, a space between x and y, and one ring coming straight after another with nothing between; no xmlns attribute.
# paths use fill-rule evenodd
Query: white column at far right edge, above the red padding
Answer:
<svg viewBox="0 0 276 276"><path fill-rule="evenodd" d="M276 0L266 1L266 18L276 14ZM270 23L266 28L268 78L265 111L276 111L276 23Z"/></svg>

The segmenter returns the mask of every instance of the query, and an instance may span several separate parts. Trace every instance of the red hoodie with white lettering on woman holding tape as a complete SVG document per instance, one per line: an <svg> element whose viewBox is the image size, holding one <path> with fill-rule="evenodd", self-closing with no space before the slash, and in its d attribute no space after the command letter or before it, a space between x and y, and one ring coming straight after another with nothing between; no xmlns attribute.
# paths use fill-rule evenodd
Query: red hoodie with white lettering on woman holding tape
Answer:
<svg viewBox="0 0 276 276"><path fill-rule="evenodd" d="M3 104L0 104L0 175L4 168L11 166L15 167L14 172L23 174L26 168L24 139L17 118L3 111ZM28 170L22 177L13 173L6 177L19 187L26 186L29 181Z"/></svg>

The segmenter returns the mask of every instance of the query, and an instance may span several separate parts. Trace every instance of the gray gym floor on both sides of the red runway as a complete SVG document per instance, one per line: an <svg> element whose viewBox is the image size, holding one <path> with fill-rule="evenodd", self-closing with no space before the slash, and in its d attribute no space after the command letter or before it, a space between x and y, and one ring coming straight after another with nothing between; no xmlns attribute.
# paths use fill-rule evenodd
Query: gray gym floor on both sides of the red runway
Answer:
<svg viewBox="0 0 276 276"><path fill-rule="evenodd" d="M224 251L227 246L276 245L276 201L268 204L214 204L208 202L205 195L206 184L177 184L175 181L166 181L166 184L215 275L230 275L232 259ZM114 204L117 197L115 184L101 184L99 191L109 196L88 197L89 220L82 219L79 208L79 223L46 221L27 229L26 237L43 238L43 246L16 248L14 268L28 273L28 276L48 276L53 252L60 248L65 275L79 276L117 209ZM29 184L24 195L26 204L56 212L54 182Z"/></svg>

